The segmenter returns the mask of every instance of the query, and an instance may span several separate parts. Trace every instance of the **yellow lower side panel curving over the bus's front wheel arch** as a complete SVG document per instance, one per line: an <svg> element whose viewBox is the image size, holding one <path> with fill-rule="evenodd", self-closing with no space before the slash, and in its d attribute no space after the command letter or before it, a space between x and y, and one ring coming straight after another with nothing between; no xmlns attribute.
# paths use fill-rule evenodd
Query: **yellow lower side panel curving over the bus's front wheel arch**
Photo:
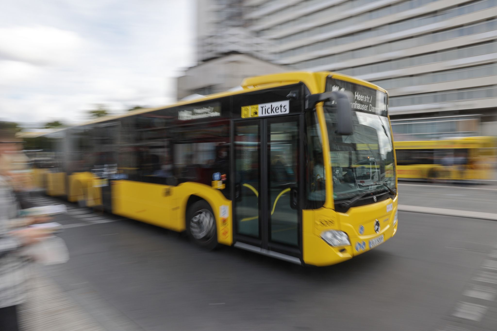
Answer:
<svg viewBox="0 0 497 331"><path fill-rule="evenodd" d="M199 183L182 183L168 186L128 180L111 181L112 212L174 231L185 230L186 204L191 195L206 200L216 218L218 242L233 243L231 200L219 190ZM224 206L224 207L223 207ZM221 208L227 217L221 217Z"/></svg>

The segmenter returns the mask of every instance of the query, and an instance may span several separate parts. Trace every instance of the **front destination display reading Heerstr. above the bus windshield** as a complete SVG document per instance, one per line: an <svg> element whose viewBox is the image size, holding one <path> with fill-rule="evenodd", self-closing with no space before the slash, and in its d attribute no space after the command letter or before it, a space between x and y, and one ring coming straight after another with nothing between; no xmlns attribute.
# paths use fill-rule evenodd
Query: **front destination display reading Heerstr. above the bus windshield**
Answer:
<svg viewBox="0 0 497 331"><path fill-rule="evenodd" d="M353 99L350 108L355 111L387 116L387 94L367 86L348 81L328 78L327 91L349 91Z"/></svg>

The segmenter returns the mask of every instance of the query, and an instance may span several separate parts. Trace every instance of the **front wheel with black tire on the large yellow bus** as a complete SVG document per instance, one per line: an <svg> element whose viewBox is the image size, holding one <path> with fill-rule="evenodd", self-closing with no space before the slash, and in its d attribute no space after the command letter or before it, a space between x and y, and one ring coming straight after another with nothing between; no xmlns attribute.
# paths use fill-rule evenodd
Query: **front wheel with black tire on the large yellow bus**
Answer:
<svg viewBox="0 0 497 331"><path fill-rule="evenodd" d="M209 250L218 246L216 217L207 201L198 200L186 211L186 233L199 246Z"/></svg>

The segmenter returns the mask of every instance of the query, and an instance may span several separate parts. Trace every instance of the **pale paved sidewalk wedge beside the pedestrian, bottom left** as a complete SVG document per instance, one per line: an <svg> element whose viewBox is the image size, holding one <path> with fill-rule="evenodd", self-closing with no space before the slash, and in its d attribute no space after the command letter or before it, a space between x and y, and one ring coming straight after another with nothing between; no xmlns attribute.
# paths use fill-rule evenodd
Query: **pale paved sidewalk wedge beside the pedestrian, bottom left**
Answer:
<svg viewBox="0 0 497 331"><path fill-rule="evenodd" d="M23 331L105 331L38 265L30 269L28 300L19 315Z"/></svg>

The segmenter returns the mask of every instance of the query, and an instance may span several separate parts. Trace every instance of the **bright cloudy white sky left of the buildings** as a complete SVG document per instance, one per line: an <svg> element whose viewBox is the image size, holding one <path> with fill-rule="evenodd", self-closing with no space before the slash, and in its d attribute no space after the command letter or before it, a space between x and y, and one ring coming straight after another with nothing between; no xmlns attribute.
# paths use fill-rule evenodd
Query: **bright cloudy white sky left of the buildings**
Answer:
<svg viewBox="0 0 497 331"><path fill-rule="evenodd" d="M192 0L15 0L0 10L0 119L88 118L175 101L194 60Z"/></svg>

